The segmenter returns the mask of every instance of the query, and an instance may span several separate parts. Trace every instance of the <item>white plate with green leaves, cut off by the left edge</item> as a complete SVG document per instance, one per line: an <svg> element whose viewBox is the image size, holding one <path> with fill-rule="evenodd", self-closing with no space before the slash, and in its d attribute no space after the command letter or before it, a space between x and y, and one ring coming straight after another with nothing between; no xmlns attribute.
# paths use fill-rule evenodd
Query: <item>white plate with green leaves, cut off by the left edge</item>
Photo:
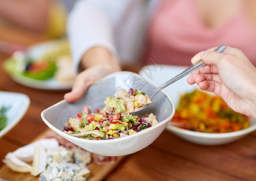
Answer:
<svg viewBox="0 0 256 181"><path fill-rule="evenodd" d="M0 131L0 138L10 131L25 115L30 98L27 95L16 92L0 91L0 109L2 106L9 107L5 115L7 116L6 127Z"/></svg>

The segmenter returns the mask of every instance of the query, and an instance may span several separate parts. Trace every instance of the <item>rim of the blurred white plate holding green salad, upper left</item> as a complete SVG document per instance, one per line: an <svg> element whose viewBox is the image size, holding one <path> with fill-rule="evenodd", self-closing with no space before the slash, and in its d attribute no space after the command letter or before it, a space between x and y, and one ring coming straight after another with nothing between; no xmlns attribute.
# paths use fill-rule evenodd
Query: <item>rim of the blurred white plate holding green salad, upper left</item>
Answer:
<svg viewBox="0 0 256 181"><path fill-rule="evenodd" d="M39 59L46 54L46 52L56 49L59 45L57 40L50 42L38 43L36 45L30 46L28 49L28 56L34 60ZM8 61L8 60L7 60ZM9 72L10 73L10 72ZM34 87L37 89L45 89L45 90L67 90L71 89L74 81L58 81L55 78L50 78L48 80L35 80L33 78L25 77L21 74L10 74L11 78L14 81L23 84L28 87Z"/></svg>

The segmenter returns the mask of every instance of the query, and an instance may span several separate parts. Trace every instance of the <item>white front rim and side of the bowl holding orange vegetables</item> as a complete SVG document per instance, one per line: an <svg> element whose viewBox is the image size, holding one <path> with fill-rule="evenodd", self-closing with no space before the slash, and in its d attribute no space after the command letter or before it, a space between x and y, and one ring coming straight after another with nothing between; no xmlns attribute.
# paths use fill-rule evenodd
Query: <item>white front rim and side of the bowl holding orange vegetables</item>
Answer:
<svg viewBox="0 0 256 181"><path fill-rule="evenodd" d="M251 126L247 129L229 133L202 133L167 125L166 129L187 141L200 145L223 145L241 139L256 130L256 120L250 119Z"/></svg>

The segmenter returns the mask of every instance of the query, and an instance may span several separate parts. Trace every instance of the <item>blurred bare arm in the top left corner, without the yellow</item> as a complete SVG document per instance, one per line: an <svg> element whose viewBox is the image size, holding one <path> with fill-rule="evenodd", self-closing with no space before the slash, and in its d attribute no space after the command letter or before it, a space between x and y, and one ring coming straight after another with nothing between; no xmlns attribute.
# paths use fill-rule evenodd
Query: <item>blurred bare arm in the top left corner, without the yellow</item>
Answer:
<svg viewBox="0 0 256 181"><path fill-rule="evenodd" d="M51 0L0 0L0 16L13 24L44 31Z"/></svg>

